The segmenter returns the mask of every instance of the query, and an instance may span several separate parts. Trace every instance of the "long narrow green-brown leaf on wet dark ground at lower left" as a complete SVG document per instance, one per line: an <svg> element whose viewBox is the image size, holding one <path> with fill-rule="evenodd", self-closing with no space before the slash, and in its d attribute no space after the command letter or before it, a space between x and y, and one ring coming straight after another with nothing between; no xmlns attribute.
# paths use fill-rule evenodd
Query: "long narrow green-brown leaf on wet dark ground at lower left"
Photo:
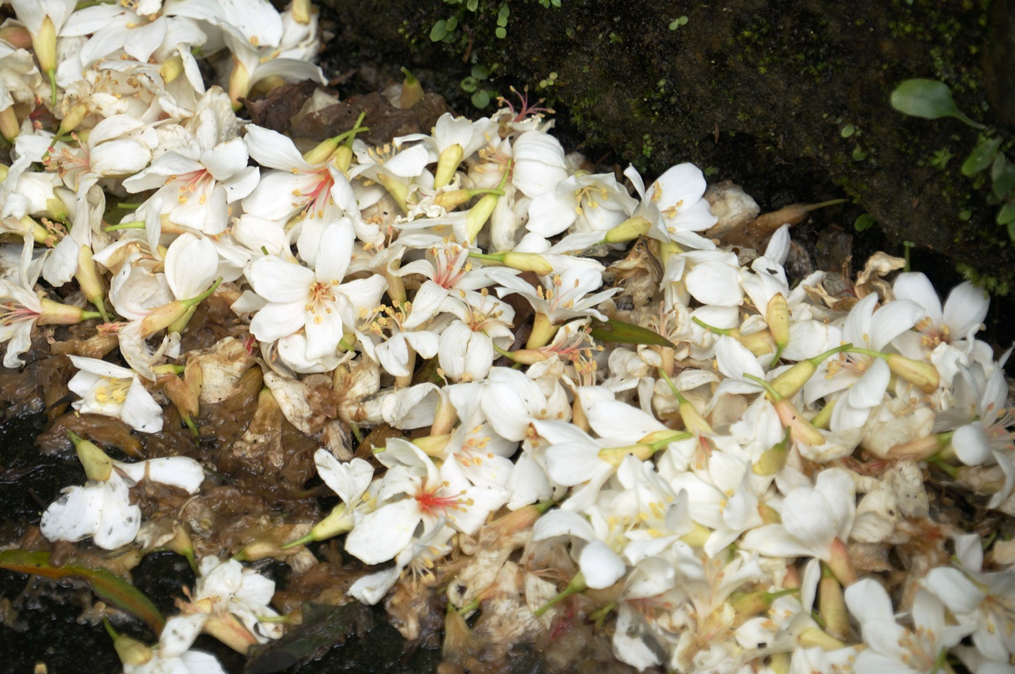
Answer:
<svg viewBox="0 0 1015 674"><path fill-rule="evenodd" d="M24 550L0 552L0 568L55 580L83 579L96 597L144 621L156 634L161 633L165 620L143 592L105 568L76 565L73 558L68 561L69 563L62 566L53 566L50 564L49 552Z"/></svg>

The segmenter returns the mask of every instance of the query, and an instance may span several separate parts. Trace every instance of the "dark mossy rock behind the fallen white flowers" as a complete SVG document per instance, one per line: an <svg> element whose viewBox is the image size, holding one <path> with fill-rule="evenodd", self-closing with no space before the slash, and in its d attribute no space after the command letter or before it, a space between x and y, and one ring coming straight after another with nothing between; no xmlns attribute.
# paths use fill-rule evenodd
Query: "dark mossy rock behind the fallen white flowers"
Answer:
<svg viewBox="0 0 1015 674"><path fill-rule="evenodd" d="M877 220L889 252L911 241L916 255L936 252L999 292L1015 280L989 185L959 172L977 132L888 104L900 81L925 77L947 83L973 119L1006 119L989 106L980 63L985 45L1001 44L988 40L988 0L562 0L559 8L512 0L502 39L499 1L479 0L475 11L447 0L325 4L336 71L366 65L396 78L405 65L472 114L460 82L480 64L493 73L481 87L506 94L529 83L545 96L566 138L595 149L593 159L632 162L650 176L690 160L752 193L764 191L766 173L796 167L806 180L772 196L776 203L762 195L763 206L849 196L857 214ZM452 17L454 30L431 42L434 24Z"/></svg>

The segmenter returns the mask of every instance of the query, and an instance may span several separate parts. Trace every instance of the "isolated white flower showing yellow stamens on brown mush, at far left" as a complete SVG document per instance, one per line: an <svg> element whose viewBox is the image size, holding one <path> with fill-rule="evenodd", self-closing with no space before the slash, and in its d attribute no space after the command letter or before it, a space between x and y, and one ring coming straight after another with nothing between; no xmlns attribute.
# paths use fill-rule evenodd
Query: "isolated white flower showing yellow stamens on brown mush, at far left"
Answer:
<svg viewBox="0 0 1015 674"><path fill-rule="evenodd" d="M71 355L70 359L78 373L67 388L81 397L72 403L74 409L121 418L134 430L145 433L162 429L162 408L137 373L97 358Z"/></svg>

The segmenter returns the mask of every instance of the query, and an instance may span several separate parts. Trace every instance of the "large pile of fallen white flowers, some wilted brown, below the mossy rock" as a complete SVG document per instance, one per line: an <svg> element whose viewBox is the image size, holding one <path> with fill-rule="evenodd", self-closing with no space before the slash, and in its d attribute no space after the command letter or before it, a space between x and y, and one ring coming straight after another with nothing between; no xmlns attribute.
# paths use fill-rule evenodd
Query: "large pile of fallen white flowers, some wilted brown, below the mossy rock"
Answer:
<svg viewBox="0 0 1015 674"><path fill-rule="evenodd" d="M1015 514L1008 353L976 339L983 291L942 307L883 254L791 287L788 225L762 250L723 243L749 197L706 199L687 163L648 187L593 173L525 100L383 146L362 117L297 145L236 111L325 81L307 0L82 4L11 0L0 27L4 366L84 324L74 409L195 435L260 369L256 419L317 442L340 499L193 559L198 534L131 489L221 476L73 435L88 479L42 534L168 547L197 575L157 646L116 636L125 671L220 671L190 651L202 631L241 653L281 636L298 618L252 560L298 575L304 545L340 535L383 566L331 601L388 597L414 637L420 604L391 598L443 597L445 657L466 669L591 624L638 670L1011 671L1015 550L937 517L926 487ZM235 320L183 349L214 299ZM253 426L243 443L269 442ZM275 451L257 456L277 469Z"/></svg>

